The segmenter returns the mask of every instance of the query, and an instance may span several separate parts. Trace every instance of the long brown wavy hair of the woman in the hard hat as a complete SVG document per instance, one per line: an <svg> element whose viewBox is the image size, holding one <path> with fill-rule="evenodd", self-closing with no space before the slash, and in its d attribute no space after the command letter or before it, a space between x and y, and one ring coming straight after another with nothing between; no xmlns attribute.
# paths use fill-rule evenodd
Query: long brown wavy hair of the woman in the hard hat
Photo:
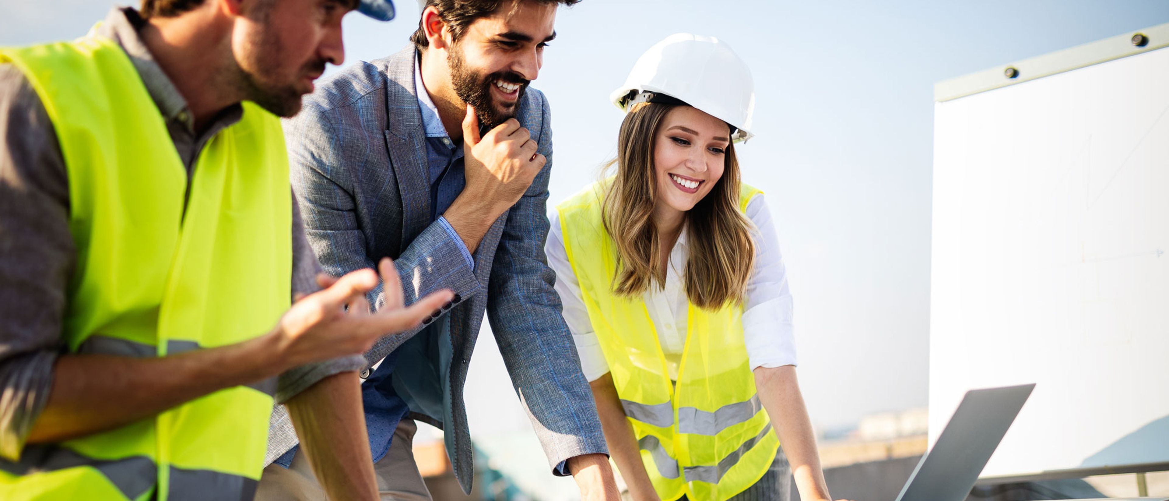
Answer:
<svg viewBox="0 0 1169 501"><path fill-rule="evenodd" d="M653 144L658 128L678 104L638 103L625 115L617 136L616 176L602 208L604 229L617 249L613 291L637 297L650 284L664 287L656 270L663 265L653 224L657 174ZM722 177L686 212L690 255L683 272L686 297L707 310L741 303L755 265L752 225L739 212L739 162L727 145Z"/></svg>

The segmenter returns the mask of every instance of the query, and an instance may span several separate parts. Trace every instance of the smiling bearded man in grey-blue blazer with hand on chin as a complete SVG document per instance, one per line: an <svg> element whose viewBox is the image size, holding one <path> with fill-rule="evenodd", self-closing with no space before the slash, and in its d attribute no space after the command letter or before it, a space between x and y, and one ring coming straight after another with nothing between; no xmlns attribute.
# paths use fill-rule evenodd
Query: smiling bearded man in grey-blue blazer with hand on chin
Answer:
<svg viewBox="0 0 1169 501"><path fill-rule="evenodd" d="M560 4L426 0L413 44L325 78L285 123L305 233L325 270L394 259L404 290L454 298L366 354L365 421L382 499L428 500L410 453L422 420L445 431L472 479L463 383L486 311L516 392L548 457L583 499L616 500L604 437L547 267L548 103L528 84ZM274 417L258 500L323 500L286 414ZM360 428L360 416L351 418Z"/></svg>

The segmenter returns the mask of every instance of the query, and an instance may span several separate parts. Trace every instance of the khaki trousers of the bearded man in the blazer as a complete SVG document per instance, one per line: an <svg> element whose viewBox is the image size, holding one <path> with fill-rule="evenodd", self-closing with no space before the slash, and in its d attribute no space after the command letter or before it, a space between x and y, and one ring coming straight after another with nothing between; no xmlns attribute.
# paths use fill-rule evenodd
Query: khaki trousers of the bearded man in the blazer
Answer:
<svg viewBox="0 0 1169 501"><path fill-rule="evenodd" d="M414 462L414 433L417 431L413 419L402 419L394 430L389 452L373 465L382 501L430 501L430 492ZM277 464L264 468L256 501L327 501L327 497L309 460L297 454L288 468Z"/></svg>

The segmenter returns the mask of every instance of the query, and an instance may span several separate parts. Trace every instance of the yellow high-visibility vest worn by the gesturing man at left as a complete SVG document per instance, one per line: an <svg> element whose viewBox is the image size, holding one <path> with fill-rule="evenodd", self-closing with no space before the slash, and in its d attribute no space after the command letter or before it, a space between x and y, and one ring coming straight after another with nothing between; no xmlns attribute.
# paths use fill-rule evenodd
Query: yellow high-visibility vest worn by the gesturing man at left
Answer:
<svg viewBox="0 0 1169 501"><path fill-rule="evenodd" d="M5 48L0 62L28 78L64 157L77 248L69 352L161 357L271 330L291 301L292 273L276 116L244 103L188 180L158 107L111 40ZM28 446L20 461L0 461L0 499L250 500L274 390L275 380L224 389L108 432Z"/></svg>

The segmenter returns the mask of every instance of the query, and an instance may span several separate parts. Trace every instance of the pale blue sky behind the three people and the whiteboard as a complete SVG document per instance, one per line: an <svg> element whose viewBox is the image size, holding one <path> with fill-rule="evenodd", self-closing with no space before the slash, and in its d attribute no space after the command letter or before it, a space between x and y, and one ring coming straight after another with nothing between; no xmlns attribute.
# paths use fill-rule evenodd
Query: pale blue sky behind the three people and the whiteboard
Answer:
<svg viewBox="0 0 1169 501"><path fill-rule="evenodd" d="M346 19L346 64L408 43L417 5L396 4L389 23ZM81 35L110 5L0 0L0 43ZM613 155L607 98L643 50L677 32L726 40L755 77L756 138L738 151L777 222L814 423L925 406L933 84L1165 22L1169 1L1148 0L584 0L560 11L533 83L553 108L552 200ZM526 427L493 350L476 350L472 427Z"/></svg>

